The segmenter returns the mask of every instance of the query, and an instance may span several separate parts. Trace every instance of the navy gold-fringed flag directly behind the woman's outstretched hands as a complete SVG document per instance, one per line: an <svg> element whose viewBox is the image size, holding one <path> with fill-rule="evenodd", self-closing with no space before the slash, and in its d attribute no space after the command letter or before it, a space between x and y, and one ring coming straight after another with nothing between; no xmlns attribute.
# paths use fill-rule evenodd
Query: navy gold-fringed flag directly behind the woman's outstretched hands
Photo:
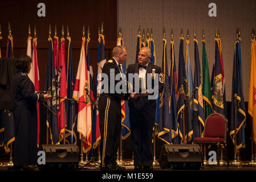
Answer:
<svg viewBox="0 0 256 182"><path fill-rule="evenodd" d="M56 104L56 77L55 77L55 69L54 69L54 58L52 51L52 39L48 38L48 63L47 63L47 71L46 71L46 90L51 92L51 99L47 101L47 106L57 114L57 104ZM47 110L46 113L46 125L50 127L50 138L52 144L59 144L59 127L58 127L58 118L56 115L51 113L51 111Z"/></svg>

